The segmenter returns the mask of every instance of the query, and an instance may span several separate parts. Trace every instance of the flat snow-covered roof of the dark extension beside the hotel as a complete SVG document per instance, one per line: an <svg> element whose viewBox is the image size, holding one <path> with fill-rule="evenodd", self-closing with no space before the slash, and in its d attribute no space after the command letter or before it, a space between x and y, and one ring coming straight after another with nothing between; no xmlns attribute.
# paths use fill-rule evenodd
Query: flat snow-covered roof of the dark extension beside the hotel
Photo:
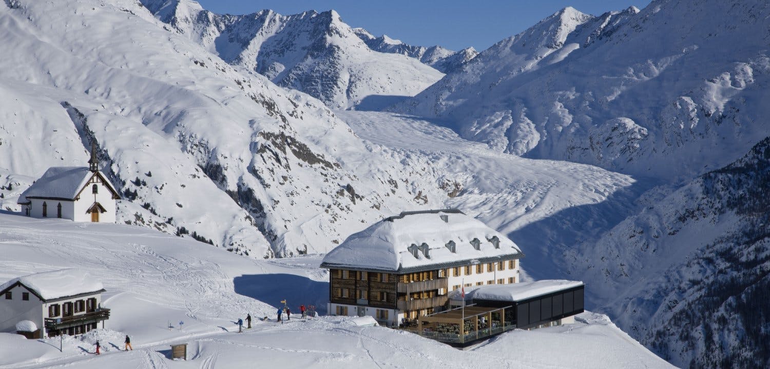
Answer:
<svg viewBox="0 0 770 369"><path fill-rule="evenodd" d="M480 286L474 290L465 291L465 300L494 300L494 301L522 301L527 298L535 298L544 294L566 290L582 286L581 281L567 281L564 279L544 279L542 281L521 282L511 284L490 284ZM460 290L450 293L450 298L460 298Z"/></svg>

